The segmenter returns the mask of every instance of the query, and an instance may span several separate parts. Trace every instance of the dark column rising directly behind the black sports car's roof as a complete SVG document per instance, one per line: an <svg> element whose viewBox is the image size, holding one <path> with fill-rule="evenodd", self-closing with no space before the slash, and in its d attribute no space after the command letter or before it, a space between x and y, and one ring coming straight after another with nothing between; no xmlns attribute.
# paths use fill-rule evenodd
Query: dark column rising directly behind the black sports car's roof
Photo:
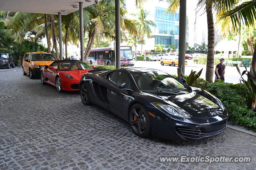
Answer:
<svg viewBox="0 0 256 170"><path fill-rule="evenodd" d="M115 0L116 21L116 68L120 68L120 0Z"/></svg>

